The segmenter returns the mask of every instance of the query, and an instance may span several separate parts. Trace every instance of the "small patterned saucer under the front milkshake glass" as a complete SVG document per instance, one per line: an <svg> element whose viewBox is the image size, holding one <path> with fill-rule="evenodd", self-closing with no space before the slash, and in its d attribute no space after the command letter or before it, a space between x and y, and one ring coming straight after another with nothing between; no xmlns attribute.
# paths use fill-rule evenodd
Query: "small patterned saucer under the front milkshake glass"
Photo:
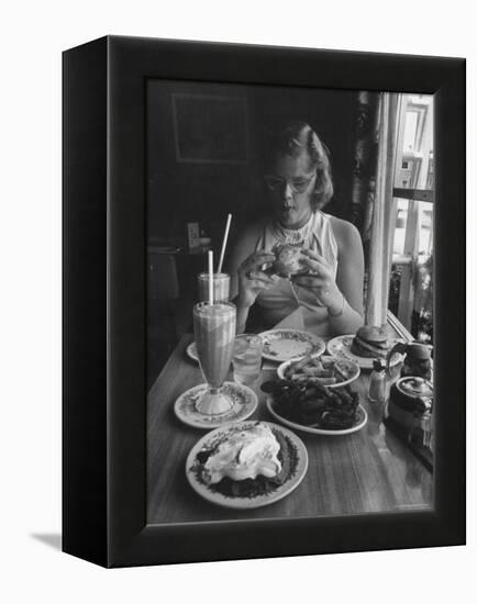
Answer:
<svg viewBox="0 0 477 604"><path fill-rule="evenodd" d="M186 390L174 403L174 413L178 420L192 428L212 429L231 422L242 422L257 409L258 399L253 390L240 383L224 382L223 390L232 399L233 407L220 415L199 413L196 402L206 389L207 384L204 383L195 385Z"/></svg>

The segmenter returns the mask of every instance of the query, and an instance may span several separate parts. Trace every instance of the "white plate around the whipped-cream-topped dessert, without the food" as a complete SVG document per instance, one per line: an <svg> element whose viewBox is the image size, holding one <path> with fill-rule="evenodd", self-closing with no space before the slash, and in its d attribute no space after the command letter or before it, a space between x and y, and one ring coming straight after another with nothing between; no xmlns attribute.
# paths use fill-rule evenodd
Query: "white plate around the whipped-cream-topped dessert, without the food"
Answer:
<svg viewBox="0 0 477 604"><path fill-rule="evenodd" d="M242 429L244 426L255 424L256 422L242 422L240 424L230 424L228 426L222 426L209 434L206 434L190 450L187 461L186 461L186 476L192 489L203 499L214 503L215 505L221 505L223 507L233 507L235 510L252 510L254 507L263 507L264 505L269 505L287 496L291 491L293 491L300 482L303 480L304 474L308 469L308 454L307 449L301 440L296 434L284 428L282 426L277 426L269 422L260 422L262 424L268 425L271 430L279 432L288 441L289 446L293 447L297 454L297 466L295 471L290 471L289 476L282 484L277 486L274 491L266 493L264 495L256 496L245 496L245 497L234 497L224 495L212 486L206 484L199 476L198 467L199 462L197 460L197 454L204 449L210 449L217 445L223 438L226 438L229 434Z"/></svg>

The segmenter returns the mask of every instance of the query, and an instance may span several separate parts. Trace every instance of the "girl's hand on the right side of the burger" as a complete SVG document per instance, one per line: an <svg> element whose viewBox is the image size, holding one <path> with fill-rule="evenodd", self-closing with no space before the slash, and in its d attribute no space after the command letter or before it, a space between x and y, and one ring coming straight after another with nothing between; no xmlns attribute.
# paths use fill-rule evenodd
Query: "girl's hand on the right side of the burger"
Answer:
<svg viewBox="0 0 477 604"><path fill-rule="evenodd" d="M293 283L309 289L317 297L318 303L325 306L331 314L339 313L343 294L336 286L332 268L322 256L311 249L303 249L302 255L302 264L310 269L311 275L297 275L292 278Z"/></svg>

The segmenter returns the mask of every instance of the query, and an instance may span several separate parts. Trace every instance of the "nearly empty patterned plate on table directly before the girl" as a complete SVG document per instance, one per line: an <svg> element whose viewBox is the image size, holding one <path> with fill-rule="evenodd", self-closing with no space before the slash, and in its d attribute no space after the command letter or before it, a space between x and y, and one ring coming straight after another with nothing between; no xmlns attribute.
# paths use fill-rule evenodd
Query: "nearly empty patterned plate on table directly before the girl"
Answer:
<svg viewBox="0 0 477 604"><path fill-rule="evenodd" d="M300 359L307 355L319 357L326 349L321 337L299 329L270 329L259 335L264 340L262 356L275 362Z"/></svg>

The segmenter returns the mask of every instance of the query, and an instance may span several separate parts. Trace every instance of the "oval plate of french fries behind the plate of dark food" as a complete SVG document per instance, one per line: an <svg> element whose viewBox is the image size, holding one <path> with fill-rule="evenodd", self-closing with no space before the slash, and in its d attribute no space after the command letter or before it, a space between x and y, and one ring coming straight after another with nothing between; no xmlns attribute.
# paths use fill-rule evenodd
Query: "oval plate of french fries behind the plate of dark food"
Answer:
<svg viewBox="0 0 477 604"><path fill-rule="evenodd" d="M319 358L307 356L299 360L282 362L277 373L281 380L293 382L308 382L326 388L341 388L359 376L359 366L348 359L331 356Z"/></svg>

